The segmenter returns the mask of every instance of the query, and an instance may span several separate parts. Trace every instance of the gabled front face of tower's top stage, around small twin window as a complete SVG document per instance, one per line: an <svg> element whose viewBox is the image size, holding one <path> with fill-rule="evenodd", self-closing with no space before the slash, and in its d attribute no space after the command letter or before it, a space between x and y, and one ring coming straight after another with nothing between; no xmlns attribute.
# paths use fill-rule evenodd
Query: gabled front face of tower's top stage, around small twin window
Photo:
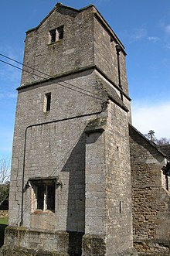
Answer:
<svg viewBox="0 0 170 256"><path fill-rule="evenodd" d="M64 26L63 39L49 43L49 31L59 26ZM24 63L52 77L93 64L93 8L76 12L59 5L41 26L27 32ZM49 78L35 73L40 77L23 72L21 84Z"/></svg>

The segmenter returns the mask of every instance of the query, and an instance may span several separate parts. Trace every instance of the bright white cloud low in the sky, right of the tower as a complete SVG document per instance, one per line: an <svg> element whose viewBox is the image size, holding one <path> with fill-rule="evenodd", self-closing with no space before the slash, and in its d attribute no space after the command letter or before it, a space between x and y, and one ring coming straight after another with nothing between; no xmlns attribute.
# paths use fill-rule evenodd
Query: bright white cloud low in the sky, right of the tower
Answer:
<svg viewBox="0 0 170 256"><path fill-rule="evenodd" d="M170 138L169 112L170 103L155 105L134 103L132 106L133 125L143 134L154 130L157 138Z"/></svg>

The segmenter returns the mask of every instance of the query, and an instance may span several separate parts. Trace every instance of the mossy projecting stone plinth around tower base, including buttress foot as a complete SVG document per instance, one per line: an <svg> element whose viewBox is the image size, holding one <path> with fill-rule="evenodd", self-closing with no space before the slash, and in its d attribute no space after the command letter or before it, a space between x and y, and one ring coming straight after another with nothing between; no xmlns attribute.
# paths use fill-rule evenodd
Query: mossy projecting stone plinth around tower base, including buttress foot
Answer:
<svg viewBox="0 0 170 256"><path fill-rule="evenodd" d="M83 246L82 246L83 245ZM82 246L82 248L81 248ZM6 227L1 256L106 256L104 235L77 232L30 230L26 227ZM111 256L138 256L134 248Z"/></svg>

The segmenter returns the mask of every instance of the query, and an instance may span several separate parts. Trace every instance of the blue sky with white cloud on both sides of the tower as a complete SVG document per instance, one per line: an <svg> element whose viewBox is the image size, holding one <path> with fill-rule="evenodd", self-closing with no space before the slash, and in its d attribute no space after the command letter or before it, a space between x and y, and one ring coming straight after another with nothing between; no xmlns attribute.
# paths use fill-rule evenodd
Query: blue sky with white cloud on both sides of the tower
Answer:
<svg viewBox="0 0 170 256"><path fill-rule="evenodd" d="M128 84L133 125L170 138L170 2L169 0L63 0L80 9L93 3L128 53ZM0 53L22 62L25 32L39 24L54 0L2 1ZM0 56L0 60L5 60ZM0 159L10 158L16 87L21 72L0 62Z"/></svg>

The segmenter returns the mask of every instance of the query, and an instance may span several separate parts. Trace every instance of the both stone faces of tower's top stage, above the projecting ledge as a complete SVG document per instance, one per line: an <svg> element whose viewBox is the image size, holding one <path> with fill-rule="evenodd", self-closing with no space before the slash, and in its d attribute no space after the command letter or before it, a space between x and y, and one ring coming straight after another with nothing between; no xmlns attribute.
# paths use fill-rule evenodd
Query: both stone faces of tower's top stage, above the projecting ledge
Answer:
<svg viewBox="0 0 170 256"><path fill-rule="evenodd" d="M118 85L116 42L110 42L110 35L95 18L95 12L97 11L93 6L78 12L58 5L40 26L29 30L26 36L24 63L45 74L25 67L25 70L35 73L35 76L23 72L21 85L76 72L93 65L99 67L114 84ZM49 31L59 26L64 26L63 39L49 43ZM128 97L123 51L120 53L120 65L124 104L129 109L131 121L131 102ZM120 94L120 91L117 93Z"/></svg>

